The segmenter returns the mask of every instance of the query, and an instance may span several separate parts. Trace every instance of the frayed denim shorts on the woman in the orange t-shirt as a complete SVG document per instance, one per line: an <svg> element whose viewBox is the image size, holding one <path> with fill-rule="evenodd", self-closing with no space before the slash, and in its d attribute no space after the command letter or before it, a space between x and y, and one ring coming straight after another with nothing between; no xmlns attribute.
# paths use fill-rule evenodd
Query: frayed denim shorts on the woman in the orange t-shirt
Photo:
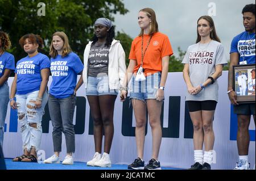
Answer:
<svg viewBox="0 0 256 181"><path fill-rule="evenodd" d="M135 75L131 80L129 88L130 99L156 99L156 91L160 86L161 73L154 73L146 77L146 81L137 82L135 81Z"/></svg>

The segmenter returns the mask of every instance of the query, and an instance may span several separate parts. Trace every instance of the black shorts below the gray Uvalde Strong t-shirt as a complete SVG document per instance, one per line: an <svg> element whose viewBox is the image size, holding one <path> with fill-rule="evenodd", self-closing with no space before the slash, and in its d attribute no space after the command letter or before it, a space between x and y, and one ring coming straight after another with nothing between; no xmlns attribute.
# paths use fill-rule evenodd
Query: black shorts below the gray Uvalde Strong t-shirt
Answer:
<svg viewBox="0 0 256 181"><path fill-rule="evenodd" d="M189 112L195 111L214 111L216 109L217 101L215 100L187 100Z"/></svg>

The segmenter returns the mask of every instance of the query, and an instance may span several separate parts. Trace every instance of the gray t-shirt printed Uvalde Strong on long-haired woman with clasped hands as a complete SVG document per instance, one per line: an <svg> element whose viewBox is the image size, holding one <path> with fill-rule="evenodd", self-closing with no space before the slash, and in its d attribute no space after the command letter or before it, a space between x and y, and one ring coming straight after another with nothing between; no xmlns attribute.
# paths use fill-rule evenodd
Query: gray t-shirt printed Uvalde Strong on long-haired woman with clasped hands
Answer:
<svg viewBox="0 0 256 181"><path fill-rule="evenodd" d="M218 41L209 44L193 44L188 47L183 64L189 64L189 77L193 87L204 83L215 72L215 65L227 64L224 47ZM216 100L218 101L218 81L205 87L197 95L187 92L185 100Z"/></svg>

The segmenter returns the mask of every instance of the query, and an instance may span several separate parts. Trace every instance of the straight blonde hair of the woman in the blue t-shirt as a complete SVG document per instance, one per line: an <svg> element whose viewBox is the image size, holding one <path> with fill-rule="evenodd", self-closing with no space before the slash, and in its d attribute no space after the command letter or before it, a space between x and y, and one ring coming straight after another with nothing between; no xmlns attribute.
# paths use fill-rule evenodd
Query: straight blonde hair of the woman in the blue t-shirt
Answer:
<svg viewBox="0 0 256 181"><path fill-rule="evenodd" d="M63 52L62 52L62 55L61 57L65 57L67 56L70 52L72 52L72 49L68 43L68 36L63 32L63 31L57 31L55 33L53 33L52 35L52 41L53 41L53 36L59 36L63 41L64 41L64 44L63 44ZM52 57L52 58L55 58L57 55L58 55L58 52L57 50L53 47L53 44L51 42L51 45L50 45L50 52L49 52L49 55Z"/></svg>

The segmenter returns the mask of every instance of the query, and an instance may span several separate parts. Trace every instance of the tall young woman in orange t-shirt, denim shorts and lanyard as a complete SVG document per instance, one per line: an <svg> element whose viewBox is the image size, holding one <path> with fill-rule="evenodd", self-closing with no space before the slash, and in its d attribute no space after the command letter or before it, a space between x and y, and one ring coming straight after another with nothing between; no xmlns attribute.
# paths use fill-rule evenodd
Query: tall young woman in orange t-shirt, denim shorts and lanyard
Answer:
<svg viewBox="0 0 256 181"><path fill-rule="evenodd" d="M121 101L123 101L127 96L127 84L133 77L129 91L136 118L135 136L138 158L128 166L128 169L159 170L158 154L162 140L160 115L164 100L164 85L168 75L169 58L173 53L168 37L158 32L154 10L149 8L140 10L138 23L141 27L141 33L133 40L131 45L130 64L126 71L123 87L121 87ZM140 71L142 69L143 72ZM153 153L152 159L147 166L144 166L146 110L148 111L152 130Z"/></svg>

